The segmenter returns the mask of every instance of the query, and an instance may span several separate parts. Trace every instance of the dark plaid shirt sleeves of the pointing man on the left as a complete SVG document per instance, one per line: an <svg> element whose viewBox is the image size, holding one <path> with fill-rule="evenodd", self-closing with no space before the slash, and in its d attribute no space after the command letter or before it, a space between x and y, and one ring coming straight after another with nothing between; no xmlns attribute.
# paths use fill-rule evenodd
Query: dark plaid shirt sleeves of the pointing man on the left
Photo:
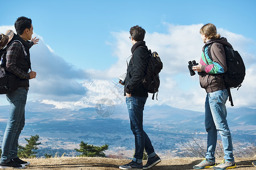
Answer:
<svg viewBox="0 0 256 170"><path fill-rule="evenodd" d="M29 43L31 46L34 45L34 42L32 41ZM6 69L21 79L30 79L30 75L16 65L21 53L24 54L24 51L20 42L13 42L13 44L11 44L7 50Z"/></svg>

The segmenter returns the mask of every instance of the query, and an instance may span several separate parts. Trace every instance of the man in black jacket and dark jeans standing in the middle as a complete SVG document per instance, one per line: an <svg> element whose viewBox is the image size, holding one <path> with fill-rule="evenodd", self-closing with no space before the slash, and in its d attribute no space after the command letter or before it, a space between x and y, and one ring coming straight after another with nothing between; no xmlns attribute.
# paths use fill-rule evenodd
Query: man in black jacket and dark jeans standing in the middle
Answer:
<svg viewBox="0 0 256 170"><path fill-rule="evenodd" d="M135 154L133 160L126 165L122 165L120 169L149 169L158 164L161 159L155 154L154 147L150 138L143 130L143 110L146 103L148 93L143 88L142 79L147 68L147 59L150 56L148 50L140 48L146 46L144 40L146 31L138 25L131 27L130 39L133 44L125 79L125 96L126 104L130 117L131 130L135 137ZM146 165L142 165L144 148L148 155Z"/></svg>

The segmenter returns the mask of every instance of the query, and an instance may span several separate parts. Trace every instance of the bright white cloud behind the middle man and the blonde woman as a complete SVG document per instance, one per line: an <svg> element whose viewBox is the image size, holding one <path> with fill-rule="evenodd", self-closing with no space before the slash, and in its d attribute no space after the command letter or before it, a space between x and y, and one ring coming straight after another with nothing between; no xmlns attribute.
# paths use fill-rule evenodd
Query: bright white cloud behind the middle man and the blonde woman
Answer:
<svg viewBox="0 0 256 170"><path fill-rule="evenodd" d="M146 33L146 45L152 51L158 52L163 62L163 70L160 73L160 88L158 101L152 101L150 97L147 104L167 104L176 108L192 109L204 111L204 101L206 92L200 87L198 76L190 76L188 71L188 61L195 59L199 62L203 41L199 30L203 24L196 25L172 25L168 24L168 33ZM237 49L243 57L247 74L245 82L239 91L232 90L235 107L255 107L256 87L256 62L255 62L255 42L242 35L218 29L218 32L225 36L228 41ZM126 59L130 56L132 46L128 31L113 32L115 42L113 54L118 57L118 61L108 70L96 71L93 76L117 78L126 72ZM129 62L129 61L128 61ZM250 96L250 97L248 97ZM229 101L226 104L230 105Z"/></svg>

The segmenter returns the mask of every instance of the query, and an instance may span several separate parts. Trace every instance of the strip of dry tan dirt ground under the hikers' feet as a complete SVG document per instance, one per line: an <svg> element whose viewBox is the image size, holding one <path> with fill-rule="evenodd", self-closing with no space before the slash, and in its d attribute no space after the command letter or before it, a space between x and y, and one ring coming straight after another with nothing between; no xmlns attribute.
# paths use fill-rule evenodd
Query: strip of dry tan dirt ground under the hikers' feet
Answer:
<svg viewBox="0 0 256 170"><path fill-rule="evenodd" d="M241 170L255 170L251 163L256 160L253 158L236 158L237 169ZM101 169L119 169L119 165L127 164L131 160L126 159L110 159L110 158L50 158L50 159L27 159L31 162L26 166L26 169L33 170L59 170L59 169L72 169L72 170L101 170ZM217 159L217 162L221 162L221 159ZM192 169L193 165L201 162L200 158L172 158L163 159L152 170L181 170ZM146 161L143 161L146 164Z"/></svg>

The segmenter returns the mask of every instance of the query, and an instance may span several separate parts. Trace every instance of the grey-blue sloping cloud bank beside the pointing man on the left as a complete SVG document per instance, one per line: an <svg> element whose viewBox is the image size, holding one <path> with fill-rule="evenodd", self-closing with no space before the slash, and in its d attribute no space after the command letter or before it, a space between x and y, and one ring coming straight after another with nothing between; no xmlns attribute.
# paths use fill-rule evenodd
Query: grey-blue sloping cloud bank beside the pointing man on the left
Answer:
<svg viewBox="0 0 256 170"><path fill-rule="evenodd" d="M12 29L15 32L13 26L1 26L0 32L5 33L7 29ZM34 33L32 37L35 36L39 37L40 40L38 44L32 46L30 54L31 67L33 71L36 71L37 75L36 79L30 80L30 95L28 95L28 100L79 100L85 95L86 91L77 82L77 79L88 78L85 71L77 69L71 63L67 63L62 57L54 54L53 50L43 41L42 37Z"/></svg>

